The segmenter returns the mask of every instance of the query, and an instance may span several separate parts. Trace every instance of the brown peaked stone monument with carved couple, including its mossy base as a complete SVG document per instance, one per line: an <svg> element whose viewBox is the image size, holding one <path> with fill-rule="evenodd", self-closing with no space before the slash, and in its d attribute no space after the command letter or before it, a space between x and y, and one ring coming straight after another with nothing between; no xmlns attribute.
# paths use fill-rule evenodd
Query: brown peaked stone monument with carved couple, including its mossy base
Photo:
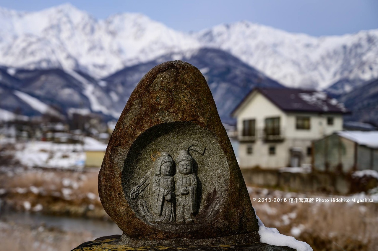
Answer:
<svg viewBox="0 0 378 251"><path fill-rule="evenodd" d="M110 138L98 189L123 234L73 250L294 250L260 243L208 84L183 61L155 66L135 87Z"/></svg>

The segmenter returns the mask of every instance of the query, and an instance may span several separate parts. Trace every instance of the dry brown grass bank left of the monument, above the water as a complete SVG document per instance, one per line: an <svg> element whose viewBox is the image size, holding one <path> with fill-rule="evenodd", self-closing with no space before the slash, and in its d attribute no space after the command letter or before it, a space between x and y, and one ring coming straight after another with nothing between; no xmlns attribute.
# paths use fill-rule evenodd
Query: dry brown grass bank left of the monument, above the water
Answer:
<svg viewBox="0 0 378 251"><path fill-rule="evenodd" d="M39 210L47 214L108 219L99 200L97 179L98 173L25 170L2 177L0 188L7 190L6 204L18 211L42 208Z"/></svg>

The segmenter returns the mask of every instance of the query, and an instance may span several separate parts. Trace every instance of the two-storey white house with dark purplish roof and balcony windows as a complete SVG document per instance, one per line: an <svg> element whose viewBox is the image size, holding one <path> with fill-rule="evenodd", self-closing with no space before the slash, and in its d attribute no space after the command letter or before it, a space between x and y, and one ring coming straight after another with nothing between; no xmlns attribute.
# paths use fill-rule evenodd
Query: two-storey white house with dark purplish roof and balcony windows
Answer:
<svg viewBox="0 0 378 251"><path fill-rule="evenodd" d="M311 164L315 139L342 130L349 113L324 92L256 88L232 112L237 118L240 168Z"/></svg>

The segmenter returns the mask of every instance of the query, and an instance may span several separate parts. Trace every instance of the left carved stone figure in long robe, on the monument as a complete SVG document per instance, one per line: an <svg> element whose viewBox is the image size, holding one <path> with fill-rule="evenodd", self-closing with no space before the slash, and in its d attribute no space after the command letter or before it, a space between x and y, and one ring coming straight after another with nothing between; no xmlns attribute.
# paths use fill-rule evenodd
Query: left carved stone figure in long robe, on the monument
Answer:
<svg viewBox="0 0 378 251"><path fill-rule="evenodd" d="M172 176L173 160L166 152L156 158L154 175L150 188L150 205L153 213L152 220L157 223L175 221L174 188L175 181Z"/></svg>

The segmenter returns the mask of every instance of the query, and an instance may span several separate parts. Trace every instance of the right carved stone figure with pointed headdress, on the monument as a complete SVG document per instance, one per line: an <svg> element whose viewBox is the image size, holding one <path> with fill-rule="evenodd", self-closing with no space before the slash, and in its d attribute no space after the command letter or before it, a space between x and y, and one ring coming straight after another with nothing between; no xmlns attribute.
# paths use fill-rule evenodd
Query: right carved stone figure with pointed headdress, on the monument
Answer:
<svg viewBox="0 0 378 251"><path fill-rule="evenodd" d="M177 172L175 179L177 223L194 223L192 214L196 211L197 176L193 173L193 158L187 150L180 150L175 158Z"/></svg>

